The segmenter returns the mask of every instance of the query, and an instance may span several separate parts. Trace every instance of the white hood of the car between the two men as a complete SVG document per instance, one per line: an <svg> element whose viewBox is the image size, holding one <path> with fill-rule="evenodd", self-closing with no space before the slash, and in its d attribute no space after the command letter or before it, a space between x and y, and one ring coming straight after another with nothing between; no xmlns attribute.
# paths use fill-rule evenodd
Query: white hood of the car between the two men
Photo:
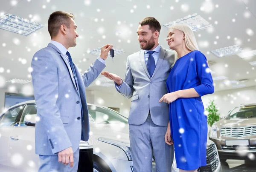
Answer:
<svg viewBox="0 0 256 172"><path fill-rule="evenodd" d="M90 140L96 142L98 138L130 143L129 124L90 124Z"/></svg>

